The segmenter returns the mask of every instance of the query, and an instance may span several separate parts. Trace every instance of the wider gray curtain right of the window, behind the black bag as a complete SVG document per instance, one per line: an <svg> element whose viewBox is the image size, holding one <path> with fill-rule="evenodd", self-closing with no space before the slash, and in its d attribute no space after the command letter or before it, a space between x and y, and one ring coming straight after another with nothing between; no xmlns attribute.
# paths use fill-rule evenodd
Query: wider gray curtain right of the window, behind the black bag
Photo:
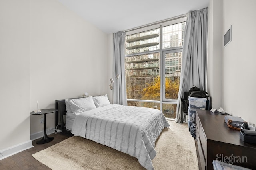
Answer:
<svg viewBox="0 0 256 170"><path fill-rule="evenodd" d="M176 122L181 122L184 92L193 85L206 89L208 8L188 13L184 30L182 70L178 94Z"/></svg>

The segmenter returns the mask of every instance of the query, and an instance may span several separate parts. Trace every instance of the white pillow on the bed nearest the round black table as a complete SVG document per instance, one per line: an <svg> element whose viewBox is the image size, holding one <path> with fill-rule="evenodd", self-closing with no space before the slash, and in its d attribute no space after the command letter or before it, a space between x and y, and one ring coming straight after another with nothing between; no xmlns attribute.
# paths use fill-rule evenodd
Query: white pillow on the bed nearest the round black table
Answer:
<svg viewBox="0 0 256 170"><path fill-rule="evenodd" d="M66 101L70 105L71 111L75 114L96 108L93 102L92 96L88 96L86 98L79 98L79 99L65 99L65 102ZM67 105L66 105L66 110L67 110ZM67 110L67 113L68 113L68 110Z"/></svg>

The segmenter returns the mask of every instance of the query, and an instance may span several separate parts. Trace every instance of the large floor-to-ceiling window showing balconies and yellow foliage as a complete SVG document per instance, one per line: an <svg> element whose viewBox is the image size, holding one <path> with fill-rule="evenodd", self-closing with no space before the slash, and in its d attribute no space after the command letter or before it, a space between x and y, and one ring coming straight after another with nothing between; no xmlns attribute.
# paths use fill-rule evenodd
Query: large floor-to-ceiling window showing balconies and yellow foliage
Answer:
<svg viewBox="0 0 256 170"><path fill-rule="evenodd" d="M125 38L128 105L160 109L167 118L176 117L186 24L174 22Z"/></svg>

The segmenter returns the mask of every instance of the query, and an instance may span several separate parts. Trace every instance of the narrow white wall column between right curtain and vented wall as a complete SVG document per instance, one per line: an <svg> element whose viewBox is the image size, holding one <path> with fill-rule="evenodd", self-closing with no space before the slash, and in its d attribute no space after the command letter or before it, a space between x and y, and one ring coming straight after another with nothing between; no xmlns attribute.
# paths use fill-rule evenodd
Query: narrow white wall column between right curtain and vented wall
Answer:
<svg viewBox="0 0 256 170"><path fill-rule="evenodd" d="M222 107L222 0L208 7L208 88L212 107Z"/></svg>

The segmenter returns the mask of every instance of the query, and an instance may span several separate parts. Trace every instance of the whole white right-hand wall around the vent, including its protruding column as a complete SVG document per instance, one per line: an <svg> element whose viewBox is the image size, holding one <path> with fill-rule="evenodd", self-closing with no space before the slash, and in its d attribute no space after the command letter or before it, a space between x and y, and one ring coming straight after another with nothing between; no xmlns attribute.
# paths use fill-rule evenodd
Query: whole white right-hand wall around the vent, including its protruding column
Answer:
<svg viewBox="0 0 256 170"><path fill-rule="evenodd" d="M210 0L209 5L208 92L213 107L250 124L256 124L255 7L255 0ZM230 25L232 41L223 47Z"/></svg>

